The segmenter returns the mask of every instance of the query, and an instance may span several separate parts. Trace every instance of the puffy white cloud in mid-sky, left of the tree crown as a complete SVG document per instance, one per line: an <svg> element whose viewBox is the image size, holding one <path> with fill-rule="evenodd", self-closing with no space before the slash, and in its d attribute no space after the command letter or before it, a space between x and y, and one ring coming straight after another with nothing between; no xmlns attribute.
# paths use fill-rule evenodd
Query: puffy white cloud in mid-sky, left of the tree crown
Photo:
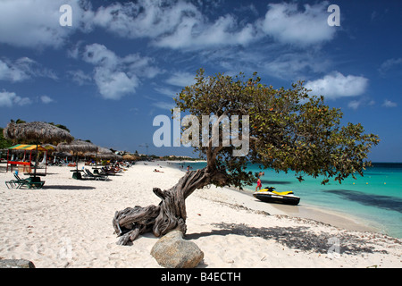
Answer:
<svg viewBox="0 0 402 286"><path fill-rule="evenodd" d="M95 66L94 80L105 99L117 100L133 94L140 84L140 77L151 79L159 73L149 57L138 54L120 57L100 44L85 46L82 58ZM83 80L82 74L75 75L78 75L76 80Z"/></svg>

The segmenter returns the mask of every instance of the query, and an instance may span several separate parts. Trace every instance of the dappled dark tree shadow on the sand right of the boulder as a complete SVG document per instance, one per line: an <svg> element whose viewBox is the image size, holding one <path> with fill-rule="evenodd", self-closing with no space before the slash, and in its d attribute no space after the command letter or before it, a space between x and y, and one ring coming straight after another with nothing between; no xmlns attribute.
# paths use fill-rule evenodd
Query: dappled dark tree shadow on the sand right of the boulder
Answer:
<svg viewBox="0 0 402 286"><path fill-rule="evenodd" d="M322 254L327 254L330 248L333 248L334 244L337 242L339 243L340 254L387 253L385 250L376 250L373 245L367 244L367 240L361 239L355 235L339 233L334 236L334 234L326 232L317 234L313 231L309 231L309 227L306 226L256 228L242 223L214 223L213 225L220 230L187 234L186 240L197 240L198 238L210 235L226 236L235 234L246 237L259 237L264 240L275 240L288 248L313 251Z"/></svg>

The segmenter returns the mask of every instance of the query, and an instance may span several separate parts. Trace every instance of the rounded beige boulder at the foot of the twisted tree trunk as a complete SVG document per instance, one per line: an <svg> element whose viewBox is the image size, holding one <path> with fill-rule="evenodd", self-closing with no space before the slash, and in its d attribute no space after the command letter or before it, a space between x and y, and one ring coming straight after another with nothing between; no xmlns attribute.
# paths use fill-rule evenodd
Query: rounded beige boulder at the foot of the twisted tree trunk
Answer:
<svg viewBox="0 0 402 286"><path fill-rule="evenodd" d="M196 243L183 240L181 231L164 235L155 243L151 255L165 268L194 268L204 258L204 252Z"/></svg>

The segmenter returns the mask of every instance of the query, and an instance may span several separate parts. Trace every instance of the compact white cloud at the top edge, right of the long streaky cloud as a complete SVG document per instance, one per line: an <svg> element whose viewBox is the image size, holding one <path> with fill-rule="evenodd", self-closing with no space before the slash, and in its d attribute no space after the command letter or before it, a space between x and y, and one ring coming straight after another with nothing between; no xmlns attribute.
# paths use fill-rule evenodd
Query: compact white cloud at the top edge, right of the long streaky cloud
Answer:
<svg viewBox="0 0 402 286"><path fill-rule="evenodd" d="M327 23L328 2L304 5L304 11L297 9L297 4L269 4L261 29L281 43L304 46L319 44L331 40L336 29Z"/></svg>

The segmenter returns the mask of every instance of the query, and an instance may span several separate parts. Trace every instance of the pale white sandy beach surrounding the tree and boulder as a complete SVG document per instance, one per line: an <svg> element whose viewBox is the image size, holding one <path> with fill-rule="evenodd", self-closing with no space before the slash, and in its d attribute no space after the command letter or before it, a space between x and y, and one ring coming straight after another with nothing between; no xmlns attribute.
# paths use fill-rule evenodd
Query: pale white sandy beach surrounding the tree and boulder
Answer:
<svg viewBox="0 0 402 286"><path fill-rule="evenodd" d="M183 172L165 162L138 163L111 181L76 181L70 170L48 167L43 189L7 189L13 174L0 171L0 257L36 267L160 267L150 255L158 240L152 233L116 245L113 215L157 205L152 188L172 187ZM186 204L185 239L204 251L198 267L402 266L402 240L366 231L347 216L214 187L198 189Z"/></svg>

